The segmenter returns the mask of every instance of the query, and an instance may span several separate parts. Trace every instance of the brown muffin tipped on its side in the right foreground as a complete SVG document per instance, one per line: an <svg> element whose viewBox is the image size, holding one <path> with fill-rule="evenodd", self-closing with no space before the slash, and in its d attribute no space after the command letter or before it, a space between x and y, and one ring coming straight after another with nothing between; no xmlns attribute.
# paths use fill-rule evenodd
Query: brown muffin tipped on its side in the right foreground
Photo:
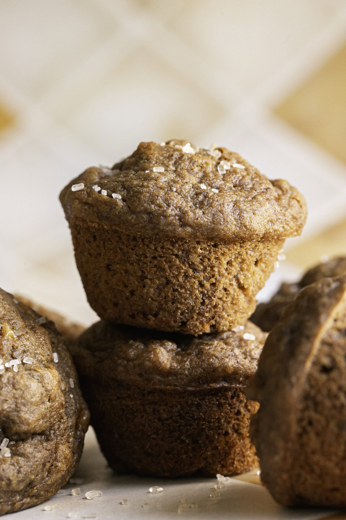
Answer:
<svg viewBox="0 0 346 520"><path fill-rule="evenodd" d="M247 396L261 479L288 506L346 507L346 276L303 289L269 334Z"/></svg>

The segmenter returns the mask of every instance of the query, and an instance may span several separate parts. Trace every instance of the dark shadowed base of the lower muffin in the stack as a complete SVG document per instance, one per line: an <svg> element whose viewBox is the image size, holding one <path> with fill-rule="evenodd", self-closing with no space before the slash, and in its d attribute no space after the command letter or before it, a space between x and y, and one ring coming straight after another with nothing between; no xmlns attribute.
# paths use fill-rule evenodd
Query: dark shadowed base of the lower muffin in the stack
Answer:
<svg viewBox="0 0 346 520"><path fill-rule="evenodd" d="M258 403L240 388L83 386L101 449L117 472L234 475L257 463L248 427Z"/></svg>

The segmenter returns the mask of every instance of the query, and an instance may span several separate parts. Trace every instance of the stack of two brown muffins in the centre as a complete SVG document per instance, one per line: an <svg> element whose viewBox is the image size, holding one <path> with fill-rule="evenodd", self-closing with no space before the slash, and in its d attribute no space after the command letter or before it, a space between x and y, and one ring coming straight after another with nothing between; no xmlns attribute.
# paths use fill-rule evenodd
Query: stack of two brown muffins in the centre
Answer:
<svg viewBox="0 0 346 520"><path fill-rule="evenodd" d="M142 142L60 196L101 320L72 347L101 448L116 470L251 469L245 398L266 339L248 322L301 194L226 148ZM197 337L196 337L197 336Z"/></svg>

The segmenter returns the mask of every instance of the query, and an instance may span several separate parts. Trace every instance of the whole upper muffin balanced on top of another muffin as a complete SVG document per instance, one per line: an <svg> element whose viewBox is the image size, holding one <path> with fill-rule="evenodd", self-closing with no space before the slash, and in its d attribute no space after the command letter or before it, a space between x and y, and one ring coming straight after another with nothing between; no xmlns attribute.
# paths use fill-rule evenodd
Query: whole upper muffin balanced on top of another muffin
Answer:
<svg viewBox="0 0 346 520"><path fill-rule="evenodd" d="M142 142L60 195L77 267L103 320L186 334L229 330L255 308L301 194L226 148Z"/></svg>

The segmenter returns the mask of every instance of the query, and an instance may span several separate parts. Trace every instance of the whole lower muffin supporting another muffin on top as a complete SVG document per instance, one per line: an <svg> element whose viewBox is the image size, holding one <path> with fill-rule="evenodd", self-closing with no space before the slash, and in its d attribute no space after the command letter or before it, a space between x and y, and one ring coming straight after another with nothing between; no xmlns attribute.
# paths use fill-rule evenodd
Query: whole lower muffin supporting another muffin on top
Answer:
<svg viewBox="0 0 346 520"><path fill-rule="evenodd" d="M251 470L258 405L244 388L266 336L251 322L198 338L93 324L71 352L110 467L163 477Z"/></svg>

